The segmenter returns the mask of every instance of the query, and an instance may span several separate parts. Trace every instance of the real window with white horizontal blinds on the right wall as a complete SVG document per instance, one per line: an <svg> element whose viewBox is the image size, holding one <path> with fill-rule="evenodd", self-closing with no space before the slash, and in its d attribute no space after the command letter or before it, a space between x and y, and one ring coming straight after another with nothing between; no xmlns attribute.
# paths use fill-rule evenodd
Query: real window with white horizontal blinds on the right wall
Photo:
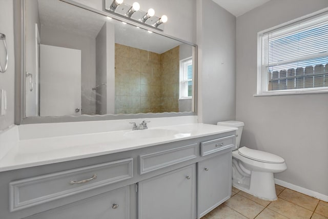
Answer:
<svg viewBox="0 0 328 219"><path fill-rule="evenodd" d="M258 34L257 94L328 92L328 14Z"/></svg>

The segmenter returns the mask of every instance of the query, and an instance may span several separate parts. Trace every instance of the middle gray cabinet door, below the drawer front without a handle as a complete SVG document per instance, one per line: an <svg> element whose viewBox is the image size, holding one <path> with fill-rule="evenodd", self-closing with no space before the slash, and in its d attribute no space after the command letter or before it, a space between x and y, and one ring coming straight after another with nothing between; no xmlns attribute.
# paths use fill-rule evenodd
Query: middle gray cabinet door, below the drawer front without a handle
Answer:
<svg viewBox="0 0 328 219"><path fill-rule="evenodd" d="M139 219L195 218L195 165L139 182Z"/></svg>

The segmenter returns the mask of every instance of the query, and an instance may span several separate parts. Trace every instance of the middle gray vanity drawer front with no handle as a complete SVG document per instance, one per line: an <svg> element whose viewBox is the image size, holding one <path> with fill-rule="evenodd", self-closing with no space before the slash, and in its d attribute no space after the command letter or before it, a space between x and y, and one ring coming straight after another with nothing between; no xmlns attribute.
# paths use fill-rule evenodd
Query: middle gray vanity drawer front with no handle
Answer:
<svg viewBox="0 0 328 219"><path fill-rule="evenodd" d="M197 157L197 144L140 155L140 174L175 165Z"/></svg>

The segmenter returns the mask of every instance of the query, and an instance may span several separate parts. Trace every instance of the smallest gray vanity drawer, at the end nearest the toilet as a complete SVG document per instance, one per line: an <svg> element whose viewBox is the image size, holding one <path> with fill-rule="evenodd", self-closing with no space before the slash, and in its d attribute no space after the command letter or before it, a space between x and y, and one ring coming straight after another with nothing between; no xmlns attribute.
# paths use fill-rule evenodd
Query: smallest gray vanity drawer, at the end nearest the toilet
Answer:
<svg viewBox="0 0 328 219"><path fill-rule="evenodd" d="M200 143L200 155L205 156L235 145L235 135L217 138L207 142Z"/></svg>

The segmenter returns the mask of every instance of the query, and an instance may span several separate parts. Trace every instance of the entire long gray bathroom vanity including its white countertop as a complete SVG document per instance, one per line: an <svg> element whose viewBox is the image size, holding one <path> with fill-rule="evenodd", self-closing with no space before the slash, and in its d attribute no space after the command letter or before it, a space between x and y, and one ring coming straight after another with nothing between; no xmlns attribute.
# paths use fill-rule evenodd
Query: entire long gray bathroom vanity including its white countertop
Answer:
<svg viewBox="0 0 328 219"><path fill-rule="evenodd" d="M185 124L21 140L0 160L1 218L200 218L231 195L235 130Z"/></svg>

